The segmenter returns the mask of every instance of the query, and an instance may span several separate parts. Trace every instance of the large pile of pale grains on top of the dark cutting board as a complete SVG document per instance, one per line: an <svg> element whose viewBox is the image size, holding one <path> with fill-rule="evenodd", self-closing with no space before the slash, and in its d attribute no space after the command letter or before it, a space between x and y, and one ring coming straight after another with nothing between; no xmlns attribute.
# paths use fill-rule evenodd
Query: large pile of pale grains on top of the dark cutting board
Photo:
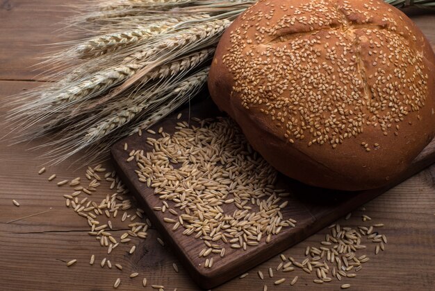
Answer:
<svg viewBox="0 0 435 291"><path fill-rule="evenodd" d="M138 165L138 179L160 196L154 210L165 213L164 221L204 241L199 256L223 257L226 247L246 250L295 227L281 213L288 193L275 188L276 170L233 121L195 120L190 127L184 121L176 129L172 135L158 130L156 138L147 138L152 150L133 149L127 161ZM206 258L204 267L213 261Z"/></svg>

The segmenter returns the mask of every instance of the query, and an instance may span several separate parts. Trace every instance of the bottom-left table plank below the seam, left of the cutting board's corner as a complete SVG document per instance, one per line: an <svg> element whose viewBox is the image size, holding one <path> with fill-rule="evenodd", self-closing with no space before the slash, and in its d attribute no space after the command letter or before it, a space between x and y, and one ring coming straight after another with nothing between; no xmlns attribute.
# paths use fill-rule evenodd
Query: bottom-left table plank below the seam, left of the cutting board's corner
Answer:
<svg viewBox="0 0 435 291"><path fill-rule="evenodd" d="M124 231L117 231L121 235ZM122 245L112 254L104 254L95 240L85 231L60 231L32 233L26 231L1 231L2 256L0 267L2 290L110 290L117 278L121 278L120 290L142 289L145 277L148 286L165 285L165 290L195 290L189 276L180 267L174 272L173 254L156 244L156 231L149 238L137 243L142 252L129 255L130 247ZM90 256L95 254L95 264ZM77 263L67 267L66 262ZM100 261L108 258L113 267L100 267ZM118 270L115 263L122 265ZM134 279L129 274L138 272ZM147 287L147 289L151 289Z"/></svg>

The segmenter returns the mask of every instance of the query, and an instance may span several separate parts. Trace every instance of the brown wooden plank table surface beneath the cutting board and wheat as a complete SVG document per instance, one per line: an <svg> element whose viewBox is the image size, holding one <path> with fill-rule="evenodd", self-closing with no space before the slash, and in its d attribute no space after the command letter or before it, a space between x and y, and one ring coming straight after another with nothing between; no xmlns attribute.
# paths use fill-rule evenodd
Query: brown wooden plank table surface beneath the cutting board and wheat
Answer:
<svg viewBox="0 0 435 291"><path fill-rule="evenodd" d="M59 21L72 14L60 7L56 0L1 0L0 1L0 102L4 103L13 94L42 84L36 77L41 69L31 67L37 58L46 52L41 44L68 39L55 32L62 27ZM411 12L411 18L435 44L435 15ZM8 106L0 107L0 136L9 132L5 123ZM68 186L58 187L60 179L83 177L85 167L69 165L77 157L63 164L47 167L47 173L38 175L41 165L47 160L39 159L41 150L28 150L38 142L8 146L7 139L0 140L0 290L110 290L115 279L120 277L120 290L152 290L151 285L165 285L165 290L197 290L181 264L174 272L172 263L177 259L166 247L156 241L158 233L151 229L145 240L135 240L137 250L132 255L126 251L130 245L121 245L112 254L100 247L94 237L88 236L89 227L84 218L65 207L64 194L71 193ZM110 162L104 162L110 168ZM54 182L47 177L56 173ZM104 188L106 187L106 188ZM101 201L108 192L107 185L92 195L92 200ZM14 206L12 200L21 205ZM423 170L406 182L396 186L353 211L349 220L340 220L341 225L358 227L366 222L361 215L372 218L372 223L384 223L382 233L388 238L385 252L375 256L372 248L366 254L370 261L358 272L358 276L345 279L352 290L435 290L435 165ZM26 215L48 211L40 215L9 222ZM133 211L134 212L134 211ZM126 231L126 222L113 220L113 235ZM288 249L284 254L298 260L304 258L307 245L318 247L329 229L323 229L302 243ZM89 259L95 254L95 265ZM124 266L101 268L101 258L107 257ZM67 267L65 262L76 258L78 262ZM275 268L279 258L253 266L244 279L233 279L214 290L288 290L289 281L299 276L295 290L338 290L340 282L316 285L314 276L300 270L281 273L274 278L265 276L262 281L258 270L267 274ZM129 279L131 272L139 276ZM148 285L142 287L146 277ZM273 282L286 278L286 283L274 286Z"/></svg>

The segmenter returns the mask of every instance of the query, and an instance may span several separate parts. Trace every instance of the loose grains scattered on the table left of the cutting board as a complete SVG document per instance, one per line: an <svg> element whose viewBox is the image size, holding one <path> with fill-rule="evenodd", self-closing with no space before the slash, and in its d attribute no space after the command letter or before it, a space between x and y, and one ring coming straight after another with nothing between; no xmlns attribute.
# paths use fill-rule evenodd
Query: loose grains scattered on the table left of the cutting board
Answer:
<svg viewBox="0 0 435 291"><path fill-rule="evenodd" d="M38 174L42 175L45 172L46 169L42 168ZM47 179L51 183L56 182L56 174L50 174ZM102 187L101 184L110 186ZM114 269L120 274L113 276L113 288L122 285L123 274L126 280L141 276L138 286L145 287L147 285L147 279L144 278L145 274L136 272L130 266L122 266L122 262L115 261L117 260L116 256L112 254L114 252L133 254L137 248L136 243L138 240L147 238L147 230L151 226L149 220L143 215L144 211L134 206L128 189L124 187L115 171L106 170L101 165L93 168L88 167L85 179L81 179L81 177L71 180L63 179L56 182L56 185L58 187L68 185L71 188L68 194L63 195L65 205L87 220L90 230L88 234L95 237L101 247L106 248L106 254L90 254L89 261L68 258L65 261L67 267L75 268L81 264L90 264L106 270ZM102 200L101 198L97 199L98 196L101 197L100 192L108 194ZM113 232L113 230L119 229L121 226L128 230L121 235L115 235L117 231ZM124 245L124 247L120 247L120 245ZM174 263L173 266L174 269L177 268L178 272L177 265ZM122 270L127 272L122 272Z"/></svg>

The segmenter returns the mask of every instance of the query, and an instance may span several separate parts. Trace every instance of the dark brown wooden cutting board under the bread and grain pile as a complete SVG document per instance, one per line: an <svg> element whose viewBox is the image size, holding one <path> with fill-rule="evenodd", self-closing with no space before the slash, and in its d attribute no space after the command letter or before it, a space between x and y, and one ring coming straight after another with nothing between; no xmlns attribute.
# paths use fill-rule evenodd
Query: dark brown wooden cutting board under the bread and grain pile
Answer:
<svg viewBox="0 0 435 291"><path fill-rule="evenodd" d="M163 127L165 132L172 134L176 123L188 121L188 116L190 118L210 118L223 115L211 100L203 100L192 105L190 109L185 108L181 112L182 117L180 120L177 120L177 112L151 127L151 129L157 131L159 127ZM204 258L199 258L198 256L199 252L204 249L202 240L195 239L193 236L183 235L182 227L179 227L177 231L172 231L173 225L163 222L163 213L153 210L154 206L161 206L161 200L158 199L158 195L154 195L152 188L147 188L146 184L138 181L138 177L134 172L137 169L136 163L134 161L131 163L126 161L131 149L143 149L145 152L150 150L149 145L145 143L148 136L151 136L151 134L144 132L142 136L129 136L113 145L111 153L115 168L126 186L136 195L138 201L142 202L149 220L160 231L165 244L172 247L174 254L179 256L180 261L186 270L188 270L192 279L202 288L213 288L235 276L243 274L255 265L299 243L312 233L319 231L353 209L372 200L377 195L386 192L389 188L418 173L435 161L434 139L413 161L413 164L400 179L391 182L390 185L384 188L359 192L315 188L281 175L277 186L279 188L286 188L291 193L290 197L287 197L288 205L281 212L284 218L294 218L297 220L296 227L283 229L278 235L273 237L270 243L266 244L263 240L258 246L248 247L246 251L227 247L224 258L220 258L216 254L213 267L205 268ZM156 137L155 135L152 136ZM124 150L124 143L129 145L129 150ZM229 209L231 212L233 210ZM166 213L165 216L167 216Z"/></svg>

